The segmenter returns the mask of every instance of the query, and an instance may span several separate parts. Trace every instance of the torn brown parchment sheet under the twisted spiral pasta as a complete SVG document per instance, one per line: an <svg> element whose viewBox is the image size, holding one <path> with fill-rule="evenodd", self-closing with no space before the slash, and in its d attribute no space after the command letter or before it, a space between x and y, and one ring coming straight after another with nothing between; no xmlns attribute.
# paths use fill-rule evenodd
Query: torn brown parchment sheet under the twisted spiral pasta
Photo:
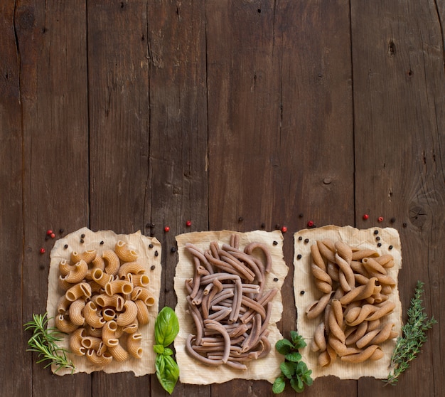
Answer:
<svg viewBox="0 0 445 397"><path fill-rule="evenodd" d="M378 231L380 240L377 241L377 235L374 231ZM302 237L299 240L299 236ZM309 238L309 242L305 243L305 239ZM320 323L320 319L307 319L306 307L311 302L317 300L323 295L316 290L311 274L311 245L316 240L323 240L330 238L333 241L342 240L351 247L355 248L371 248L377 251L380 255L389 253L394 257L395 266L387 269L387 274L396 280L396 287L392 289L390 300L395 303L394 311L387 316L385 322L395 323L393 330L401 332L402 327L402 305L400 303L397 275L400 268L402 268L402 251L400 246L399 233L394 228L369 228L359 230L351 226L324 226L322 228L304 229L294 234L294 293L297 309L297 328L308 346L301 350L304 361L308 364L309 369L312 370L312 378L316 379L318 376L334 375L340 379L359 379L361 376L373 376L376 379L385 379L390 371L390 357L395 346L395 339L384 342L381 347L384 353L382 359L377 361L365 361L360 364L350 364L336 359L330 366L321 367L317 364L318 352L311 351L311 342L313 339L313 332ZM382 246L377 247L377 243L382 243ZM388 247L392 245L390 250ZM297 258L301 255L301 259ZM304 291L304 294L301 292Z"/></svg>

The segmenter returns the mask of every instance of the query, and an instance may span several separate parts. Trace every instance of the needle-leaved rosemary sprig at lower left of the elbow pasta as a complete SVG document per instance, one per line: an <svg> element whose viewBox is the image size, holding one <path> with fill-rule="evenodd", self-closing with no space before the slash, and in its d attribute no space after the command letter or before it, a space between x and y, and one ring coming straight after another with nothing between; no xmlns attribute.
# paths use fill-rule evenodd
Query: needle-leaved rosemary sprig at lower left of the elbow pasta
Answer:
<svg viewBox="0 0 445 397"><path fill-rule="evenodd" d="M23 327L26 330L33 330L33 336L28 340L30 348L26 349L26 351L36 351L38 353L40 359L36 361L36 364L49 361L45 368L55 364L57 369L55 369L54 373L61 368L68 368L71 369L71 374L73 374L75 370L73 361L70 361L66 356L67 351L60 348L57 344L61 340L59 335L63 334L63 332L60 332L55 327L48 328L47 313L33 314L33 320L24 324Z"/></svg>

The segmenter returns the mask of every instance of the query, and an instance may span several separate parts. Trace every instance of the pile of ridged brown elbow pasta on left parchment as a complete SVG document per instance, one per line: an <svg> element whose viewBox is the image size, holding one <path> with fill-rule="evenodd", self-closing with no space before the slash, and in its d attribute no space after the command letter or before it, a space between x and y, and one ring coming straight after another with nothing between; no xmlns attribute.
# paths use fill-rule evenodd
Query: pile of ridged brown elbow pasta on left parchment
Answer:
<svg viewBox="0 0 445 397"><path fill-rule="evenodd" d="M119 240L114 250L73 251L59 263L55 326L70 334L70 349L105 366L142 356L139 326L149 323L154 297L138 255Z"/></svg>

